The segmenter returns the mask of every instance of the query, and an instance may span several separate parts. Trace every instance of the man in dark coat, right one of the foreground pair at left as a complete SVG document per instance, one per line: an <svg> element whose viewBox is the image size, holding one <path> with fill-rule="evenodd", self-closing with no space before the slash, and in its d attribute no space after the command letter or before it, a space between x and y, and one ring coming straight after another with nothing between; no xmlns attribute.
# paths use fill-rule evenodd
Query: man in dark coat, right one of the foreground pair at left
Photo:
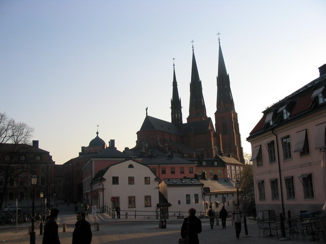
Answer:
<svg viewBox="0 0 326 244"><path fill-rule="evenodd" d="M77 222L72 233L72 244L90 244L92 241L92 230L90 223L85 220L84 212L77 212Z"/></svg>

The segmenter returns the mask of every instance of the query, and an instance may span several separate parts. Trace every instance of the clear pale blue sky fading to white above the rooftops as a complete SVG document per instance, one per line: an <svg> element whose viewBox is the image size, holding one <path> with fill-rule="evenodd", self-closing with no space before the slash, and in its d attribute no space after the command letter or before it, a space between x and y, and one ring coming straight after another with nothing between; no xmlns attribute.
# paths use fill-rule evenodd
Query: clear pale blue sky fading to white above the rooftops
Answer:
<svg viewBox="0 0 326 244"><path fill-rule="evenodd" d="M242 146L262 111L319 76L326 2L0 1L0 112L35 128L57 164L96 136L132 148L148 114L171 121L173 59L186 121L192 43L214 123L218 37Z"/></svg>

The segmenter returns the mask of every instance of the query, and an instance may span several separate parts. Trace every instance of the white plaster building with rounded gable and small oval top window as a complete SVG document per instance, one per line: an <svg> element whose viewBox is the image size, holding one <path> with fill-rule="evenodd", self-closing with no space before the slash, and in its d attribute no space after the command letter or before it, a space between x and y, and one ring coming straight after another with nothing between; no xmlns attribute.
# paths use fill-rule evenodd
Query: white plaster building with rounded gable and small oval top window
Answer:
<svg viewBox="0 0 326 244"><path fill-rule="evenodd" d="M158 181L148 166L137 161L124 160L110 165L99 170L93 178L93 205L111 208L120 205L121 218L126 212L130 216L135 211L138 216L151 215L154 218L159 203Z"/></svg>

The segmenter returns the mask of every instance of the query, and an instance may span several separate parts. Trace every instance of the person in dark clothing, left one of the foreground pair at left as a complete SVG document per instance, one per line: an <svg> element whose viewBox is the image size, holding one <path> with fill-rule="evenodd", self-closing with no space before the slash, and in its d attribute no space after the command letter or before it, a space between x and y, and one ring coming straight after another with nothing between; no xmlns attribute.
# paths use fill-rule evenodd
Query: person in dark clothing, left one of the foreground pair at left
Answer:
<svg viewBox="0 0 326 244"><path fill-rule="evenodd" d="M58 208L52 208L50 215L44 225L42 244L60 244L58 224L56 222L59 215Z"/></svg>

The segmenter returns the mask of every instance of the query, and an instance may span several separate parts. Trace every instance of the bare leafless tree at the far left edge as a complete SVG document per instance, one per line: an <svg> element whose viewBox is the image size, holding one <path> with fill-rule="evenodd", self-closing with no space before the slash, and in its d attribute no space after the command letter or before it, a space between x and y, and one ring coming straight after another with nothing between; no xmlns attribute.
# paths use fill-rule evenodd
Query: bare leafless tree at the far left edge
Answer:
<svg viewBox="0 0 326 244"><path fill-rule="evenodd" d="M0 209L8 194L8 186L13 184L17 175L26 172L23 167L15 170L12 166L20 153L19 144L29 143L33 132L32 127L8 118L6 113L0 113L0 178L3 181L0 186Z"/></svg>

